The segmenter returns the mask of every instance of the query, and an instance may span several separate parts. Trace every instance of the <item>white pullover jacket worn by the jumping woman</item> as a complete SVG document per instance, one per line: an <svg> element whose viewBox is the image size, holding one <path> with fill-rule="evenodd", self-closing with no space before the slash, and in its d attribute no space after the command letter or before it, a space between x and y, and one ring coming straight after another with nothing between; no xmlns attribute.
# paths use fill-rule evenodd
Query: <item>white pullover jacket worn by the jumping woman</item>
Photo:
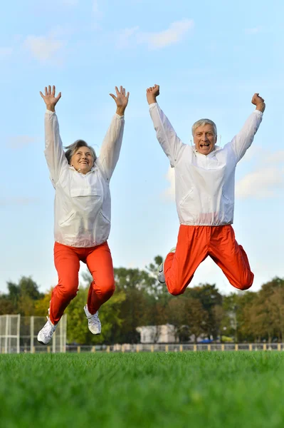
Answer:
<svg viewBox="0 0 284 428"><path fill-rule="evenodd" d="M87 173L68 164L56 113L46 111L46 149L51 181L56 189L54 238L73 247L93 247L110 234L110 178L120 155L124 116L115 114L102 143L100 156Z"/></svg>

